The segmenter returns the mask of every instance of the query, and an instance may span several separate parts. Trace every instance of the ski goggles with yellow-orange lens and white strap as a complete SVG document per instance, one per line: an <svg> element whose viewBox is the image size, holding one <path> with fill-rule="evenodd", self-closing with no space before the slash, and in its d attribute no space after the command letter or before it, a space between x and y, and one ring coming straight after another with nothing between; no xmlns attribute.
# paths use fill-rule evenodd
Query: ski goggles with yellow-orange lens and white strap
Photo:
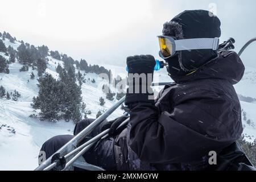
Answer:
<svg viewBox="0 0 256 182"><path fill-rule="evenodd" d="M194 49L218 49L218 38L197 38L197 39L180 39L176 40L172 36L158 36L160 51L159 56L168 59L176 55L177 51L194 50Z"/></svg>

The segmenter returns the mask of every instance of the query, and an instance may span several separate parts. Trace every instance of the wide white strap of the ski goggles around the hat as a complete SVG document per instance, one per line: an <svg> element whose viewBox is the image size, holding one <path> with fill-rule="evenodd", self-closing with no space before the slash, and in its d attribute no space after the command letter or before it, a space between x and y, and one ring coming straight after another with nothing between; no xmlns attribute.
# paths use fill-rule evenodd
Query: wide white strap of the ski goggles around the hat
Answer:
<svg viewBox="0 0 256 182"><path fill-rule="evenodd" d="M175 51L193 49L218 49L218 38L198 38L175 40Z"/></svg>

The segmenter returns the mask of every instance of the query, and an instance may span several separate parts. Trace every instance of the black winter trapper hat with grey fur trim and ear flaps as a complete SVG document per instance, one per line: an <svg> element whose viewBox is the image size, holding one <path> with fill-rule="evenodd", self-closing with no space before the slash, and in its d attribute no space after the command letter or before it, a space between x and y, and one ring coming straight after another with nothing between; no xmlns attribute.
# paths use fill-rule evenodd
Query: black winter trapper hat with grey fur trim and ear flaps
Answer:
<svg viewBox="0 0 256 182"><path fill-rule="evenodd" d="M216 38L221 36L220 19L209 11L187 10L163 25L163 35L176 39ZM217 57L212 49L178 51L177 55L166 59L167 71L171 76L183 76Z"/></svg>

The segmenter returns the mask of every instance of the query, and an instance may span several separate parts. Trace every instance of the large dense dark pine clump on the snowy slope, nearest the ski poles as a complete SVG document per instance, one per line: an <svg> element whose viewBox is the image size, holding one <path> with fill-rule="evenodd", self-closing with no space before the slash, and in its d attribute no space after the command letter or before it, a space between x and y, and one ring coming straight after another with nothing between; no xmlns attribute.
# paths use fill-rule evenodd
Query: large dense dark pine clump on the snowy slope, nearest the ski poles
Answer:
<svg viewBox="0 0 256 182"><path fill-rule="evenodd" d="M39 95L32 100L32 107L40 109L41 120L57 121L61 118L65 121L72 119L75 123L81 119L81 88L68 73L63 70L60 79L55 80L46 73L39 78Z"/></svg>

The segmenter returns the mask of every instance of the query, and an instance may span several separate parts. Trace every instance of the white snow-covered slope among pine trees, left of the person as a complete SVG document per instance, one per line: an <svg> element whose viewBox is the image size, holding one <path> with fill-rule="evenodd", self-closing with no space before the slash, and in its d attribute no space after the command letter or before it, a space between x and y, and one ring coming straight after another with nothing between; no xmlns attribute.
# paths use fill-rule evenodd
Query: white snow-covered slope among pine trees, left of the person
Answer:
<svg viewBox="0 0 256 182"><path fill-rule="evenodd" d="M12 46L15 49L19 46L18 42L10 43L8 39L4 41L6 46ZM0 55L9 59L4 53ZM48 65L46 72L53 77L58 78L56 73L58 64L63 65L60 60L48 56ZM34 96L38 95L38 81L30 79L31 72L37 76L37 71L19 72L22 67L19 63L9 65L10 74L0 73L0 85L4 86L6 92L14 92L14 89L21 94L18 101L0 99L0 170L32 170L38 166L37 158L40 147L49 138L55 135L72 134L74 123L60 121L57 123L39 121L39 119L28 117L30 114L36 114L31 107L31 101ZM84 72L81 72L84 74ZM98 83L102 80L96 74L86 74L86 80L90 78L96 80L96 83L87 81L82 84L82 98L85 102L86 109L92 111L87 115L89 118L95 118L98 110L106 110L114 104L115 101L105 100L106 104L100 106L100 97L105 94ZM29 80L29 82L28 82ZM122 114L118 109L113 113L113 119Z"/></svg>

